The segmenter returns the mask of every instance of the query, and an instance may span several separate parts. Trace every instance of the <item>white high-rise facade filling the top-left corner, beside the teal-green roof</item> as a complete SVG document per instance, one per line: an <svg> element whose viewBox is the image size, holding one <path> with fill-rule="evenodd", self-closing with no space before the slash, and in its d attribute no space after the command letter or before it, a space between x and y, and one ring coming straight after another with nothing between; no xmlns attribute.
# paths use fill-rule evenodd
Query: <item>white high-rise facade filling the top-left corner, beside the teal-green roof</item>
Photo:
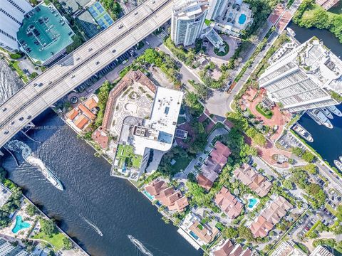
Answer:
<svg viewBox="0 0 342 256"><path fill-rule="evenodd" d="M19 31L24 15L32 7L26 0L1 0L0 5L0 47L18 50L16 32Z"/></svg>

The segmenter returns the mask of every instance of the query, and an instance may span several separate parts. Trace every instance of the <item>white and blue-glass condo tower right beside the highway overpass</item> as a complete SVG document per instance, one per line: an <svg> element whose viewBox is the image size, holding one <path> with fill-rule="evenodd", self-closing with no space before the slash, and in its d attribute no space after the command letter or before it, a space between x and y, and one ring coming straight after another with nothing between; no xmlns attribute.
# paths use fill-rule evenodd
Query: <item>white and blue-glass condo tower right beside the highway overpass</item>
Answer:
<svg viewBox="0 0 342 256"><path fill-rule="evenodd" d="M181 0L172 8L171 39L175 45L190 46L202 33L208 1Z"/></svg>

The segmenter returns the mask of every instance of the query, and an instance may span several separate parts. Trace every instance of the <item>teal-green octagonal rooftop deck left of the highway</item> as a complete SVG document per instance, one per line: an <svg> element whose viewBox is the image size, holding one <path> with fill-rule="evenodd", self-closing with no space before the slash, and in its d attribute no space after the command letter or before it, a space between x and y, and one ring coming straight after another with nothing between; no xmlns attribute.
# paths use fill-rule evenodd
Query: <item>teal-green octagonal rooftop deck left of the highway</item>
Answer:
<svg viewBox="0 0 342 256"><path fill-rule="evenodd" d="M45 63L73 43L74 35L53 4L40 4L25 15L18 41L33 62Z"/></svg>

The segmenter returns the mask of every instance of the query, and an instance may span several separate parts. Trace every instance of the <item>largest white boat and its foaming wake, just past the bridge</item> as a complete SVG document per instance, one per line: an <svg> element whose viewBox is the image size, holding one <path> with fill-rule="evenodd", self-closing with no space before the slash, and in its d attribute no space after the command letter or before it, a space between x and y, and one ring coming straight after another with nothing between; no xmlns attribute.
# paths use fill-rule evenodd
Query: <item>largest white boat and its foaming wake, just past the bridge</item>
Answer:
<svg viewBox="0 0 342 256"><path fill-rule="evenodd" d="M53 172L48 169L48 167L45 166L43 161L41 159L38 159L34 156L32 156L32 150L30 149L29 146L27 146L24 142L20 142L19 140L13 140L10 141L6 144L7 148L11 151L15 151L17 153L21 152L21 156L23 156L24 160L28 163L31 164L31 166L36 166L38 169L41 170L41 173L45 178L50 181L50 183L58 188L59 190L63 191L63 185L61 181L57 178Z"/></svg>

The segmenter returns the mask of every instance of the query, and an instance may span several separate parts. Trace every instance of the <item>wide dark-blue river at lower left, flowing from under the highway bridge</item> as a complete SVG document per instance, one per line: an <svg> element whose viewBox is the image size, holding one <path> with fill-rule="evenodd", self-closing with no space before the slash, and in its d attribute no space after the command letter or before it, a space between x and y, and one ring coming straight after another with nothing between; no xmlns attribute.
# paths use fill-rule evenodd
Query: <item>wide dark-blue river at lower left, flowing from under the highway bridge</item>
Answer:
<svg viewBox="0 0 342 256"><path fill-rule="evenodd" d="M46 110L33 121L43 129L19 139L33 155L53 171L65 191L48 183L37 167L15 153L20 166L5 154L1 164L9 170L11 180L24 188L24 193L90 255L143 255L128 239L137 238L153 255L202 255L195 250L172 224L165 224L162 215L150 201L128 181L113 178L110 164L95 157L94 150L73 132L52 111ZM103 233L101 237L93 223Z"/></svg>

